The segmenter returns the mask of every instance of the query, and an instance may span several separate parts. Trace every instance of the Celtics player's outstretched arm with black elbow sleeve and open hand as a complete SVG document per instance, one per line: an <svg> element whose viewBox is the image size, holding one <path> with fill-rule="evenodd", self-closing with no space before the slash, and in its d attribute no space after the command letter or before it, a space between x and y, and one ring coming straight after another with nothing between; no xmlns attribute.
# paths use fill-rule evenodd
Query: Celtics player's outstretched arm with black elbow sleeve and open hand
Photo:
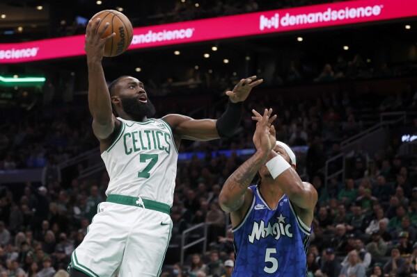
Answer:
<svg viewBox="0 0 417 277"><path fill-rule="evenodd" d="M164 120L170 124L176 136L186 140L214 140L231 137L242 118L242 102L246 100L253 87L263 82L256 76L242 79L233 90L226 92L229 96L228 107L219 119L192 119L184 115L166 115Z"/></svg>

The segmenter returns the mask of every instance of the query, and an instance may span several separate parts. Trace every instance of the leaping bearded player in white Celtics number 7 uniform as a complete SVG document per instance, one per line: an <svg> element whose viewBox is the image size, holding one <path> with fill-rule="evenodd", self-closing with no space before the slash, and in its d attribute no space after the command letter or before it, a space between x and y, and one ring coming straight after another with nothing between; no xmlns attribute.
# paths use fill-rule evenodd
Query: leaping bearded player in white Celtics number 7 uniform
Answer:
<svg viewBox="0 0 417 277"><path fill-rule="evenodd" d="M97 30L99 23L88 22L84 49L88 106L110 182L107 201L98 205L88 234L72 253L70 276L159 276L171 237L169 210L180 141L233 135L242 101L262 79L243 79L226 92L228 108L217 120L151 118L155 108L141 81L122 76L107 87L101 61L104 44L114 34L101 39L107 25Z"/></svg>

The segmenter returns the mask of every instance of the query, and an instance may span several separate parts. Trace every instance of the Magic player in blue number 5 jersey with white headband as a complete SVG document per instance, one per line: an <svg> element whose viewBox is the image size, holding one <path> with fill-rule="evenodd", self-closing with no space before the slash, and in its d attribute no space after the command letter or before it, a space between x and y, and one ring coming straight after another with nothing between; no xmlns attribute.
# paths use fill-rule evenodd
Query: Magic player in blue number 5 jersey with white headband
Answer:
<svg viewBox="0 0 417 277"><path fill-rule="evenodd" d="M219 195L233 225L233 276L306 276L317 192L299 178L290 147L276 141L272 109L263 115L253 112L258 121L256 152L228 178ZM251 185L257 173L260 182Z"/></svg>

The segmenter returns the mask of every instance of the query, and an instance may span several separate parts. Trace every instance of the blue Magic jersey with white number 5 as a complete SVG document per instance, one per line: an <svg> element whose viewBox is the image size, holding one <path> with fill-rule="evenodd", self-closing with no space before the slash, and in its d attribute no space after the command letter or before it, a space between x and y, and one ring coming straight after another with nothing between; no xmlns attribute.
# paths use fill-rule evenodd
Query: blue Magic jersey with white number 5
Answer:
<svg viewBox="0 0 417 277"><path fill-rule="evenodd" d="M236 261L232 276L306 276L310 228L296 215L287 195L271 210L258 186L250 188L251 208L233 229Z"/></svg>

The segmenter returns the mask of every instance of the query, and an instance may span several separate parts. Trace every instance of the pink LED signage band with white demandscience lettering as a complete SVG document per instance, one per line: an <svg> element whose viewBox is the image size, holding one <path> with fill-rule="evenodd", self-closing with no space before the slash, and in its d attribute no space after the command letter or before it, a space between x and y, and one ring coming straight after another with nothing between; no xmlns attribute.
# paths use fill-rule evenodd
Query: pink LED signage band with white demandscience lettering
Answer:
<svg viewBox="0 0 417 277"><path fill-rule="evenodd" d="M414 0L358 0L134 28L129 49L417 16ZM84 55L84 35L0 44L0 63Z"/></svg>

